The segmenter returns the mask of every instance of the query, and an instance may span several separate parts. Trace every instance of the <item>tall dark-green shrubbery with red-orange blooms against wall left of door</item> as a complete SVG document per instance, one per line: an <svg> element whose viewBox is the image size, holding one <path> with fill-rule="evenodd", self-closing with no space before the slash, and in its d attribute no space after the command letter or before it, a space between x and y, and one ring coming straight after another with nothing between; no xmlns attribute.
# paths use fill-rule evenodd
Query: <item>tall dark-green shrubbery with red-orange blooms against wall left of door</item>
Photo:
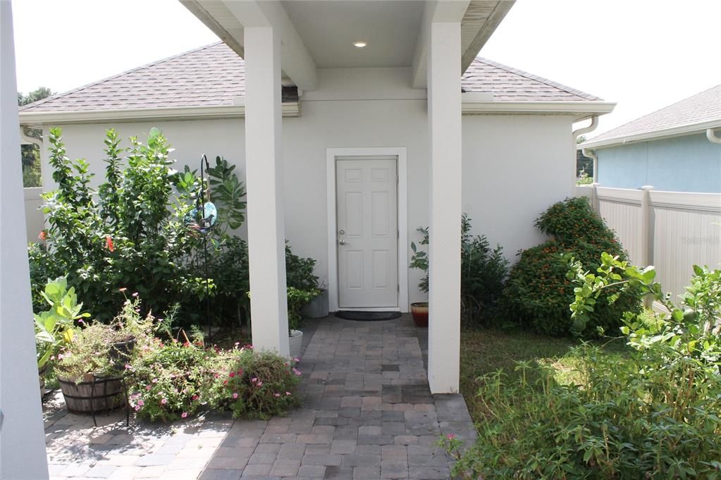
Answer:
<svg viewBox="0 0 721 480"><path fill-rule="evenodd" d="M115 130L107 130L105 182L94 190L87 162L68 159L60 129L51 129L50 145L58 190L45 194L49 228L41 239L47 243L29 250L35 311L43 308L48 279L66 275L101 321L118 311L121 288L140 294L143 311L180 305L185 327L206 323L206 295L214 298L216 323L247 318L248 249L234 236L245 220L245 188L234 165L216 157L205 182L187 166L182 172L170 168L172 150L159 130L151 130L147 145L131 138L130 148L122 148ZM218 209L215 226L205 234L196 218L204 186ZM286 246L288 286L305 297L317 291L314 265L314 259Z"/></svg>

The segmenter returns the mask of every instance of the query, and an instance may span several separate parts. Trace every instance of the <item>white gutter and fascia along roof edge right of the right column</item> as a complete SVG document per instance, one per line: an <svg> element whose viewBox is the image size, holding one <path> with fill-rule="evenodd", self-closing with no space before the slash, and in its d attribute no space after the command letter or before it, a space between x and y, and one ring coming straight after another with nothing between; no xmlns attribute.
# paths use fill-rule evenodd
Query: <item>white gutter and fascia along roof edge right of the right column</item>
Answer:
<svg viewBox="0 0 721 480"><path fill-rule="evenodd" d="M616 104L596 100L580 102L505 102L483 99L487 94L464 93L462 95L464 115L484 114L527 114L527 115L573 115L583 120L591 115L612 112Z"/></svg>

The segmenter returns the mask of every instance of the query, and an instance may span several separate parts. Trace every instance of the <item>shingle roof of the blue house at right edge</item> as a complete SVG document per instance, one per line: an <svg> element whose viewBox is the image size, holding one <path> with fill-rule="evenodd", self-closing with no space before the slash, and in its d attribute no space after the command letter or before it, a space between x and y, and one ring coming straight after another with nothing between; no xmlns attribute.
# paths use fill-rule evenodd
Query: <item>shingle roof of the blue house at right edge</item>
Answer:
<svg viewBox="0 0 721 480"><path fill-rule="evenodd" d="M588 142L613 141L616 138L620 140L631 135L643 135L714 120L718 120L721 125L721 85L713 86L704 92L601 133Z"/></svg>

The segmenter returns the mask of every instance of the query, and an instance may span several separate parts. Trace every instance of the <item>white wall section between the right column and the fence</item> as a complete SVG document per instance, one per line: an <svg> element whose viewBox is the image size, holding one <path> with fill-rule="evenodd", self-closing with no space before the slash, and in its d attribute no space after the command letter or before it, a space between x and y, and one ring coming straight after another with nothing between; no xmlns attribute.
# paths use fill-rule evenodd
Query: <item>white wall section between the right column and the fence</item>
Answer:
<svg viewBox="0 0 721 480"><path fill-rule="evenodd" d="M463 211L512 262L546 240L536 218L574 195L571 125L560 115L463 117Z"/></svg>

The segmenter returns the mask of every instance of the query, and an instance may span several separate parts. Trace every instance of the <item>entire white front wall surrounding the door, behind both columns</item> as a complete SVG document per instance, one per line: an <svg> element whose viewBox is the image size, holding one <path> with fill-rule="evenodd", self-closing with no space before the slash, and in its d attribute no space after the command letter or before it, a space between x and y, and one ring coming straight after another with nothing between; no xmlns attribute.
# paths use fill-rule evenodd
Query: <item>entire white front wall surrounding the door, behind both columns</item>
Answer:
<svg viewBox="0 0 721 480"><path fill-rule="evenodd" d="M408 87L410 75L410 68L320 69L319 89L301 97L301 117L283 118L286 237L293 252L317 259L321 280L328 278L326 148L407 148L409 241L419 239L418 226L428 226L427 107L425 91ZM158 127L175 148L177 169L185 164L199 169L203 153L211 164L221 155L238 165L236 173L244 179L243 122L61 126L68 156L89 160L96 181L102 180L102 140L110 127L121 138L141 139ZM463 117L463 209L474 230L503 245L509 259L543 241L534 220L551 203L572 195L571 123L571 117L551 115ZM44 185L52 185L47 169L43 175ZM416 288L421 276L409 272L410 302L425 299Z"/></svg>

